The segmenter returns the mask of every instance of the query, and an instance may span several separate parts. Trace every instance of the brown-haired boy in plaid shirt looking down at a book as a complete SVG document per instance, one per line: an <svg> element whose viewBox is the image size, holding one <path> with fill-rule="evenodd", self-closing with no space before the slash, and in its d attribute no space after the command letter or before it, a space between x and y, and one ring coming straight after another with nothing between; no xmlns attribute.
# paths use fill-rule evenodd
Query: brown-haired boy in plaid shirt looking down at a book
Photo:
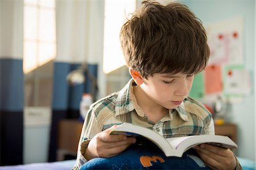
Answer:
<svg viewBox="0 0 256 170"><path fill-rule="evenodd" d="M209 47L200 20L180 3L142 2L120 32L132 79L119 92L94 103L82 128L74 169L92 158L108 158L135 143L109 135L123 122L151 128L163 137L214 134L211 114L188 97L194 75L207 65ZM212 169L236 169L232 151L195 147Z"/></svg>

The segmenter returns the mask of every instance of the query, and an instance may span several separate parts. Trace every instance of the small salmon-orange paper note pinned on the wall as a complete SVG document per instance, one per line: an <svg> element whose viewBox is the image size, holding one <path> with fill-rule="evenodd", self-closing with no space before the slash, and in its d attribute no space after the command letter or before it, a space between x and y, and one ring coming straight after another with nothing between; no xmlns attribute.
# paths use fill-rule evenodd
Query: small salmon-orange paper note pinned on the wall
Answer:
<svg viewBox="0 0 256 170"><path fill-rule="evenodd" d="M221 65L210 65L205 68L205 93L216 94L222 91Z"/></svg>

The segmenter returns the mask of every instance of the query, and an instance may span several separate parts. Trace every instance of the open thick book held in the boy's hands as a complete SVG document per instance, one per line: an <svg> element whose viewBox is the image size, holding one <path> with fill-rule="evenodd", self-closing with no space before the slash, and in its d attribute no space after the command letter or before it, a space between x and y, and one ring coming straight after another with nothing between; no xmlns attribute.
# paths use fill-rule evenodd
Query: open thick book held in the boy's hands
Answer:
<svg viewBox="0 0 256 170"><path fill-rule="evenodd" d="M158 146L166 156L181 157L185 151L201 143L208 143L224 148L237 148L229 137L222 135L192 135L187 137L163 138L153 130L124 123L115 128L110 134L122 134L138 139L148 139ZM137 140L138 141L138 140Z"/></svg>

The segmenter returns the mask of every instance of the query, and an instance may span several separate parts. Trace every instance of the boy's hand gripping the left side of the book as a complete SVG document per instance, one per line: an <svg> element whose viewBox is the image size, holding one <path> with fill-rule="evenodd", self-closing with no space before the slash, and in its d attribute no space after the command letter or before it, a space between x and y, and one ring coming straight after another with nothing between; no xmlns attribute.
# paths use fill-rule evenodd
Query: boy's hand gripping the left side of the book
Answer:
<svg viewBox="0 0 256 170"><path fill-rule="evenodd" d="M85 159L90 160L96 157L108 158L118 155L125 150L132 143L136 142L133 137L126 137L125 135L110 135L110 131L116 128L114 125L109 129L101 131L95 135L89 142L85 151Z"/></svg>

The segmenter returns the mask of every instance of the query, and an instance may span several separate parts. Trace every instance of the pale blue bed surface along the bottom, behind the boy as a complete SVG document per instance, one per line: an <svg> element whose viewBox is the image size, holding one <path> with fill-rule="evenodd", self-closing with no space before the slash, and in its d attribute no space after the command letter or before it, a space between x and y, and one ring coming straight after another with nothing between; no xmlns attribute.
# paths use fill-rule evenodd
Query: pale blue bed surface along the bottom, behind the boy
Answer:
<svg viewBox="0 0 256 170"><path fill-rule="evenodd" d="M253 160L239 158L243 170L255 170L256 165ZM1 170L70 170L75 164L75 160L64 160L52 163L32 163L24 165L13 165L0 167Z"/></svg>

